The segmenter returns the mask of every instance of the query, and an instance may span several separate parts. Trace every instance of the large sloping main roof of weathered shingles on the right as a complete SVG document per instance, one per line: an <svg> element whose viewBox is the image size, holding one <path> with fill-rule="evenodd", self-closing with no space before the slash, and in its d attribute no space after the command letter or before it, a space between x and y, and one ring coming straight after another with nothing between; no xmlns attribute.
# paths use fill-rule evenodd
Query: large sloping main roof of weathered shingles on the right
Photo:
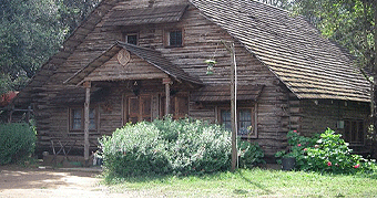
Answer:
<svg viewBox="0 0 377 199"><path fill-rule="evenodd" d="M370 102L369 83L350 55L303 17L253 0L190 0L298 97Z"/></svg>

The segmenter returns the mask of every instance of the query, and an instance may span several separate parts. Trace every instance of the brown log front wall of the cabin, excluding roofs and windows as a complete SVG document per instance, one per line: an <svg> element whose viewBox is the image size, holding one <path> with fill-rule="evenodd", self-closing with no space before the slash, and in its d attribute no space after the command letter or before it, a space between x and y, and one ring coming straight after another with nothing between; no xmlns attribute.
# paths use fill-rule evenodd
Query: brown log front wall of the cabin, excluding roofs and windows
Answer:
<svg viewBox="0 0 377 199"><path fill-rule="evenodd" d="M173 3L185 2L185 0L130 0L118 3L114 9L135 9L146 8L151 6L167 6ZM110 7L111 8L111 7ZM109 8L109 9L110 9ZM206 20L198 10L193 7L188 7L184 13L182 20L176 23L166 24L147 24L147 25L134 25L134 27L102 27L103 22L110 14L102 15L102 21L93 24L92 30L78 29L75 34L85 34L85 39L79 45L74 46L74 51L68 59L60 65L55 65L55 70L51 73L51 77L47 84L40 90L41 92L35 94L35 118L38 122L39 132L39 146L41 148L49 147L49 138L61 136L65 137L71 135L69 130L69 104L53 104L51 101L58 96L59 92L72 86L62 85L67 78L71 77L78 70L88 65L93 59L101 55L103 51L114 44L116 40L124 41L124 34L128 32L139 32L139 44L141 46L152 48L162 52L162 55L169 59L173 64L180 66L192 76L197 76L204 84L228 84L230 83L230 65L231 54L220 40L235 42L236 62L237 62L237 77L238 84L247 85L265 85L261 96L257 100L257 129L258 137L251 139L251 142L257 142L266 156L273 156L276 151L286 147L286 133L292 128L302 128L303 132L309 130L312 126L323 125L318 122L318 125L313 125L313 121L320 116L320 109L315 109L318 114L310 115L315 108L307 102L300 102L294 98L294 95L286 88L285 85L263 65L247 49L232 38L226 31L215 25L211 21ZM182 48L165 48L164 34L166 30L182 29L184 32L184 45ZM81 33L81 31L88 31L89 33ZM68 44L67 44L68 45ZM132 56L135 61L137 57ZM217 61L214 67L213 75L206 75L207 59L214 59ZM134 66L145 66L146 62L137 60L137 64ZM106 67L108 66L108 67ZM105 63L105 67L111 66L119 67L115 57ZM116 69L119 70L119 69ZM153 71L153 70L150 70ZM101 69L95 71L99 75ZM159 71L154 71L161 75ZM91 74L92 78L95 78L95 73ZM93 76L94 75L94 76ZM108 73L108 75L114 75L114 73ZM132 80L129 76L129 80ZM101 82L103 83L103 82ZM92 143L95 143L96 138L102 135L111 135L113 130L123 125L123 96L130 94L129 81L115 81L108 83L110 94L105 100L92 103L98 107L99 126L98 132L92 133L90 137ZM103 86L101 84L93 83L94 86ZM174 82L173 87L183 87L183 84ZM185 85L187 91L191 88ZM156 77L149 81L143 81L144 91L142 92L164 92L161 77ZM83 92L83 91L82 91ZM74 97L74 96L73 96ZM190 102L188 114L192 117L217 122L217 107L226 104L206 104L197 105L194 102ZM254 107L255 103L251 103L249 106ZM82 104L83 106L83 104ZM111 108L105 108L111 106ZM353 113L350 113L353 114ZM326 122L325 119L323 122ZM310 126L310 127L306 127ZM75 135L80 139L80 134ZM95 146L95 145L94 145Z"/></svg>

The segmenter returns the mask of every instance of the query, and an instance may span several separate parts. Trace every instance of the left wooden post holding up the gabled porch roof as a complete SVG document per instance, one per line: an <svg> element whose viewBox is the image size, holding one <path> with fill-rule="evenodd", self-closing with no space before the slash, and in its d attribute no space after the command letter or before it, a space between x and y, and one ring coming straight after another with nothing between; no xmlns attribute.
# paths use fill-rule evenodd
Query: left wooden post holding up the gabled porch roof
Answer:
<svg viewBox="0 0 377 199"><path fill-rule="evenodd" d="M85 87L85 103L84 103L84 160L85 166L89 166L89 106L90 106L90 87L91 82L84 82L83 86Z"/></svg>

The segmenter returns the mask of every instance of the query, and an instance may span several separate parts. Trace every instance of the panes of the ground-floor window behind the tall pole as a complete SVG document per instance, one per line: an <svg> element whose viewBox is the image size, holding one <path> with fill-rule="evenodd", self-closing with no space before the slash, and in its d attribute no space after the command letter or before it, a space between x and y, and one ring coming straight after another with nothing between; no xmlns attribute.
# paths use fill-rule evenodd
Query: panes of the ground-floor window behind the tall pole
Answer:
<svg viewBox="0 0 377 199"><path fill-rule="evenodd" d="M231 125L231 109L220 108L220 122L224 128L232 130ZM256 138L255 129L255 112L254 108L238 108L237 109L237 135L241 137Z"/></svg>

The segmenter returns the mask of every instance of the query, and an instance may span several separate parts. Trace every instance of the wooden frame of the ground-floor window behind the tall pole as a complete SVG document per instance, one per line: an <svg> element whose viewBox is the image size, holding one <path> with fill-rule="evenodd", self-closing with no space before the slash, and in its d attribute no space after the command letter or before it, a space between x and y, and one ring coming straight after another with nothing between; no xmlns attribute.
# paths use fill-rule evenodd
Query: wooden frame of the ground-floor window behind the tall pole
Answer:
<svg viewBox="0 0 377 199"><path fill-rule="evenodd" d="M241 122L240 122L240 114L242 111L248 109L251 113L251 124L253 126L253 132L248 133L248 135L240 135L240 129L241 129ZM222 112L227 111L231 112L230 106L218 106L217 107L217 122L223 125L223 117L222 117ZM258 138L258 130L257 130L257 104L255 103L254 106L238 106L237 107L237 137L241 138Z"/></svg>

